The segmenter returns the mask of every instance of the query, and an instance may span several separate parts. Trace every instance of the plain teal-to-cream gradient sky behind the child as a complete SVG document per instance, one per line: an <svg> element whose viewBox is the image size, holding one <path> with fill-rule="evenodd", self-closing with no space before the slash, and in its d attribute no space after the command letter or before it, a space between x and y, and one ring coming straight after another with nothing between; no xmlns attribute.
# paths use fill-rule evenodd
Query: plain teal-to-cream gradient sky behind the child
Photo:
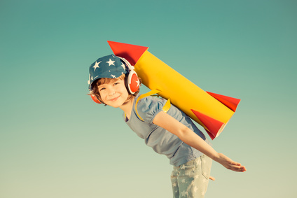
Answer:
<svg viewBox="0 0 297 198"><path fill-rule="evenodd" d="M296 7L2 0L0 197L172 197L169 160L120 109L87 95L90 64L112 53L107 40L148 46L203 90L242 99L213 144L247 172L214 162L206 197L296 196Z"/></svg>

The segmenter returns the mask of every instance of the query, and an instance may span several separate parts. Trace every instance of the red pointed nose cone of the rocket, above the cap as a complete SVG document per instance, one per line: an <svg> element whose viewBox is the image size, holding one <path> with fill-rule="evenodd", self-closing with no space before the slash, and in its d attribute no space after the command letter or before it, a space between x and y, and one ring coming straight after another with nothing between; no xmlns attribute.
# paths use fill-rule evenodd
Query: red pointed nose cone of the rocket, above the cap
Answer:
<svg viewBox="0 0 297 198"><path fill-rule="evenodd" d="M109 43L114 55L127 59L132 65L135 65L141 55L148 49L148 47L140 45L131 45L114 41L107 41L107 43Z"/></svg>

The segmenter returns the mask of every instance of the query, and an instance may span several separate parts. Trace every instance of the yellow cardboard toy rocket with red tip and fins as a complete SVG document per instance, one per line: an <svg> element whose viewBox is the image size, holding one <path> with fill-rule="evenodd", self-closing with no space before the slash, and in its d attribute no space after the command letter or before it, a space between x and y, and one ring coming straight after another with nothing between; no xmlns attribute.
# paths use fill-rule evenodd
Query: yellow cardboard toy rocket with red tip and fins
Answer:
<svg viewBox="0 0 297 198"><path fill-rule="evenodd" d="M205 128L211 139L223 131L240 99L205 92L170 66L148 52L148 47L107 41L116 56L134 65L146 87L159 90L186 115Z"/></svg>

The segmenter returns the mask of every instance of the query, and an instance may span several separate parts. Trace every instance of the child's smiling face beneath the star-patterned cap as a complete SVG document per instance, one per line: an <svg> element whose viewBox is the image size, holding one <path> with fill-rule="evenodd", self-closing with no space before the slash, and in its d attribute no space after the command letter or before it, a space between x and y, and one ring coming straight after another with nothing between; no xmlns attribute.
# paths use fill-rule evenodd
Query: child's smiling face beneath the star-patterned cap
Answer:
<svg viewBox="0 0 297 198"><path fill-rule="evenodd" d="M98 86L100 97L104 104L118 108L123 106L129 97L125 80L117 78Z"/></svg>

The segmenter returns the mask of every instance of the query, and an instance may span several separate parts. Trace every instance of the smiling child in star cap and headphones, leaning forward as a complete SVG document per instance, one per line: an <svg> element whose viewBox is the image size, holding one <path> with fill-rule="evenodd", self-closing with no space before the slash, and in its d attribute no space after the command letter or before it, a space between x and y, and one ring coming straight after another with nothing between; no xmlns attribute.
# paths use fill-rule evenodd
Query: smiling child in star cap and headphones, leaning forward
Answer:
<svg viewBox="0 0 297 198"><path fill-rule="evenodd" d="M123 58L108 55L97 59L90 66L90 95L99 103L121 108L126 124L146 145L170 159L174 197L204 197L212 160L233 171L246 171L209 146L205 135L179 108L165 99L139 95L140 80L131 73L136 76Z"/></svg>

